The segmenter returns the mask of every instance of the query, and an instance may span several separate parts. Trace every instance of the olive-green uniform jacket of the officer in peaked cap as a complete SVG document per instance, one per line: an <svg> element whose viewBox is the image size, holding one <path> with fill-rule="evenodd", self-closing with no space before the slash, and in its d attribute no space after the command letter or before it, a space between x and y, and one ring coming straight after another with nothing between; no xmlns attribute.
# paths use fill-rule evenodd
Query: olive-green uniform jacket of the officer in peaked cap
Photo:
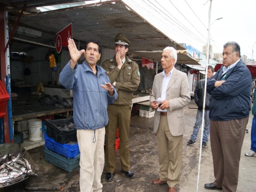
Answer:
<svg viewBox="0 0 256 192"><path fill-rule="evenodd" d="M125 56L125 63L122 65L121 70L119 70L115 55L113 58L104 61L102 67L108 72L108 78L111 84L116 81L118 98L113 104L131 105L133 92L137 90L140 84L138 64Z"/></svg>

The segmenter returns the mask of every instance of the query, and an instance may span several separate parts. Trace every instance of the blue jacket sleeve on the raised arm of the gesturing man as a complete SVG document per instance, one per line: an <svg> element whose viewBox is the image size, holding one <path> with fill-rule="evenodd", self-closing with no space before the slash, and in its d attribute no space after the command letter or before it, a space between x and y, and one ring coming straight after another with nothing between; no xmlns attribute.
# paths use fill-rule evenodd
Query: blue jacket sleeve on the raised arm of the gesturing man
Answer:
<svg viewBox="0 0 256 192"><path fill-rule="evenodd" d="M70 66L70 61L66 64L63 70L60 73L59 81L66 89L75 88L75 74L78 64L76 64L75 69L72 69Z"/></svg>

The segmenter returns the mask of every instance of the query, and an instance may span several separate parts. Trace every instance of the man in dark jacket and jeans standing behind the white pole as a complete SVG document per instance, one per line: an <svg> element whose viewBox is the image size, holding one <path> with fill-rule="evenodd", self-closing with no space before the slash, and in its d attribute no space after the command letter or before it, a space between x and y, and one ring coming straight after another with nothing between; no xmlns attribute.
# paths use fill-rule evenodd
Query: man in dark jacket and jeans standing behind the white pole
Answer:
<svg viewBox="0 0 256 192"><path fill-rule="evenodd" d="M207 71L207 79L211 78L213 76L214 70L212 66L208 66L208 71ZM202 116L203 116L203 105L204 105L204 82L205 79L202 79L196 84L194 96L195 96L195 103L198 106L198 112L196 114L196 120L195 120L195 125L193 129L193 133L190 137L189 142L187 145L194 145L195 141L198 136L198 132L200 129L200 126L202 125ZM209 108L210 108L210 98L211 95L209 93L206 93L205 96L205 111L204 111L204 133L203 133L203 142L202 142L202 147L207 146L208 142L208 136L210 134L210 119L209 119Z"/></svg>

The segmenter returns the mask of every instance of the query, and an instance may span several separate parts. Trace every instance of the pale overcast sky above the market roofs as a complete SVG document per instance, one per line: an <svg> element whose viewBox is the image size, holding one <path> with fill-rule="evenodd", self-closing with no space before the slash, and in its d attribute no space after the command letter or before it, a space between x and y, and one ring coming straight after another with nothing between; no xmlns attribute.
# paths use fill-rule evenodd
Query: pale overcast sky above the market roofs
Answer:
<svg viewBox="0 0 256 192"><path fill-rule="evenodd" d="M190 44L199 51L207 44L210 0L123 1L177 43ZM151 9L160 17L148 12ZM212 0L210 44L213 53L221 53L227 41L236 41L241 47L241 55L252 58L253 48L256 59L256 44L253 47L256 42L255 13L256 0ZM223 19L216 20L220 17Z"/></svg>

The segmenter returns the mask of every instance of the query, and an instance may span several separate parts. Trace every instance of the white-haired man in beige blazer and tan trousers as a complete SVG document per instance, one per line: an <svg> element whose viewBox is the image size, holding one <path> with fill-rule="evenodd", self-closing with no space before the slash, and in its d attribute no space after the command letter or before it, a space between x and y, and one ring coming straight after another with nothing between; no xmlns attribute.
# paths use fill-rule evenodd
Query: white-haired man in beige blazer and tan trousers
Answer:
<svg viewBox="0 0 256 192"><path fill-rule="evenodd" d="M152 184L167 183L169 192L176 192L180 181L184 134L183 107L190 103L187 75L175 69L176 61L177 51L173 47L163 49L163 72L155 76L150 96L151 107L157 110L154 115L154 133L157 134L160 164L160 177L153 180Z"/></svg>

